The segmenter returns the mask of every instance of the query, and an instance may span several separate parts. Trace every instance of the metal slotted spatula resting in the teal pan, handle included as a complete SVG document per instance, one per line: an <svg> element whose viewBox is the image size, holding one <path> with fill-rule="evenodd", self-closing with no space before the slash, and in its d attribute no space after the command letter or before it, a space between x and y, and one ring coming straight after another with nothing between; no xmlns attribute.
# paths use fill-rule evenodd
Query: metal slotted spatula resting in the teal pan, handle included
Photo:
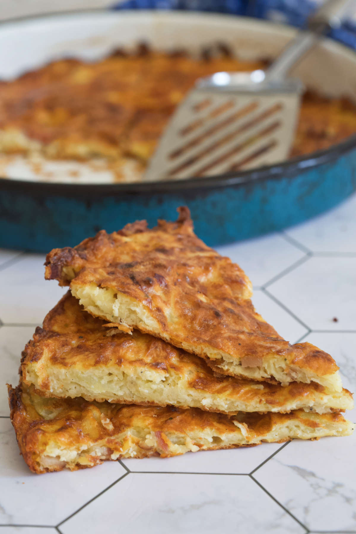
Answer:
<svg viewBox="0 0 356 534"><path fill-rule="evenodd" d="M355 0L329 0L264 72L218 72L197 81L178 107L144 180L222 174L282 161L294 139L303 84L286 75Z"/></svg>

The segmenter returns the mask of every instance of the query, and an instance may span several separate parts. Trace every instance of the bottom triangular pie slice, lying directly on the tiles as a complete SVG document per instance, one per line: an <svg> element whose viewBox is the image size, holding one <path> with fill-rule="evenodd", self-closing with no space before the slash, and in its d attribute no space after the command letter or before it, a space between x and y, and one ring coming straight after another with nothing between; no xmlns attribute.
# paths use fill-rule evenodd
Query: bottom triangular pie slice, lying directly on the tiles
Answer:
<svg viewBox="0 0 356 534"><path fill-rule="evenodd" d="M9 387L11 421L21 454L35 473L81 469L120 458L170 457L294 438L348 436L339 413L227 415L190 408L90 403Z"/></svg>

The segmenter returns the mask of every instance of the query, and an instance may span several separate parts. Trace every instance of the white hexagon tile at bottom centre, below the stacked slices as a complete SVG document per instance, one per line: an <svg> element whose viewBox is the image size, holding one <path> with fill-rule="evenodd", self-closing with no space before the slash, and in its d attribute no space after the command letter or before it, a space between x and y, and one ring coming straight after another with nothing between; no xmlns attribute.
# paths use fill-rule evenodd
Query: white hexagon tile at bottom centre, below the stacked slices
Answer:
<svg viewBox="0 0 356 534"><path fill-rule="evenodd" d="M118 521L122 532L147 534L263 534L266 527L275 534L305 532L249 477L138 473L61 524L60 531L96 534L105 524L106 532L117 532Z"/></svg>

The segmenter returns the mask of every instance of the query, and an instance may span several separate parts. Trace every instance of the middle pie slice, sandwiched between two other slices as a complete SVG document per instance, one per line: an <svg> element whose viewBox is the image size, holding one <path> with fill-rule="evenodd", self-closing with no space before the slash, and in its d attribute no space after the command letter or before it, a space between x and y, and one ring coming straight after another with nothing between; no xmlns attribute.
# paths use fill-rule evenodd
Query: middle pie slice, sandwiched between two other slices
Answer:
<svg viewBox="0 0 356 534"><path fill-rule="evenodd" d="M49 397L197 407L212 412L352 409L349 391L217 376L202 358L143 334L107 328L68 292L22 355L22 379Z"/></svg>

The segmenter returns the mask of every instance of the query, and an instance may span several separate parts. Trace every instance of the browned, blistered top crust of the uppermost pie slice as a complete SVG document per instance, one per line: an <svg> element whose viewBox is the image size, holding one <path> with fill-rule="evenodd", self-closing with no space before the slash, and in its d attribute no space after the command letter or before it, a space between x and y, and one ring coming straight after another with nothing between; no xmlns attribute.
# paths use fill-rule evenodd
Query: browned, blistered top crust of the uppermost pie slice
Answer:
<svg viewBox="0 0 356 534"><path fill-rule="evenodd" d="M101 231L75 248L54 249L45 277L128 295L160 324L160 333L148 326L142 331L176 347L189 343L189 352L199 356L212 348L242 358L242 364L247 356L257 363L282 356L287 367L319 375L338 370L326 352L310 343L290 345L256 313L246 274L196 237L187 208L180 208L175 223L160 221L150 230L139 221L109 235Z"/></svg>

